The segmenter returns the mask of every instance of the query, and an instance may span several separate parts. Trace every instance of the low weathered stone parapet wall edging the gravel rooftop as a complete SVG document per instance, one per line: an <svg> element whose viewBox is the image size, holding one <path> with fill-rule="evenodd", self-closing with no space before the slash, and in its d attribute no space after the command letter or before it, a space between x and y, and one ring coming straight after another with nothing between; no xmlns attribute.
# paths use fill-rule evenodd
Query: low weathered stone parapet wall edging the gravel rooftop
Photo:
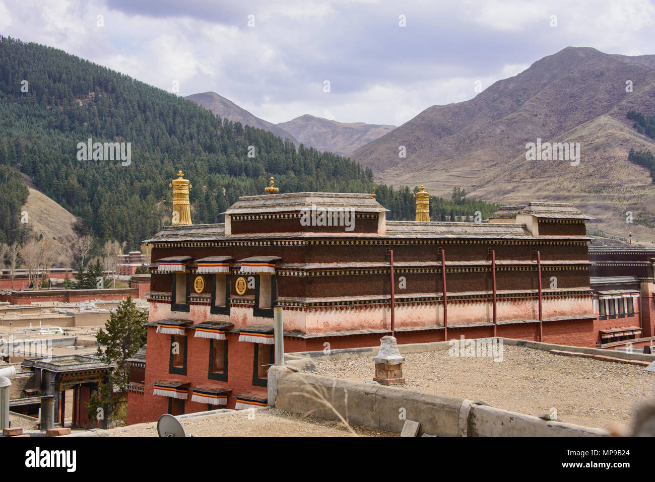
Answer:
<svg viewBox="0 0 655 482"><path fill-rule="evenodd" d="M504 339L504 343L539 350L576 347ZM528 343L529 345L525 344ZM449 342L398 345L401 353L447 350ZM559 348L557 348L559 347ZM578 348L578 350L596 350ZM335 379L303 373L313 371L313 360L359 358L377 355L378 347L329 352L286 354L287 367L269 369L269 405L292 413L312 413L319 417L381 430L400 432L405 419L421 424L421 434L441 437L602 437L608 432L564 422L479 405L474 401L427 394L417 390L377 383ZM607 353L608 350L600 350ZM614 352L611 352L614 354ZM622 354L637 359L645 355ZM648 355L646 355L648 356ZM649 356L652 357L652 356ZM373 362L371 360L371 373Z"/></svg>

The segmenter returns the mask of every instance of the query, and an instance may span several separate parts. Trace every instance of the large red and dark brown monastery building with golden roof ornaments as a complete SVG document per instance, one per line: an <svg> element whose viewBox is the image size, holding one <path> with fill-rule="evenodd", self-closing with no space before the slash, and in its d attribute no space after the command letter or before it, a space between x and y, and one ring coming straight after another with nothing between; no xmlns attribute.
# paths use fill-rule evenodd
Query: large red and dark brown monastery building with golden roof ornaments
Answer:
<svg viewBox="0 0 655 482"><path fill-rule="evenodd" d="M286 352L375 346L392 313L398 343L595 346L591 218L571 204L508 206L488 223L388 221L374 195L275 194L271 183L269 195L239 198L225 223L192 225L179 221L189 181L178 177L174 223L147 241L147 350L128 423L266 405L274 307Z"/></svg>

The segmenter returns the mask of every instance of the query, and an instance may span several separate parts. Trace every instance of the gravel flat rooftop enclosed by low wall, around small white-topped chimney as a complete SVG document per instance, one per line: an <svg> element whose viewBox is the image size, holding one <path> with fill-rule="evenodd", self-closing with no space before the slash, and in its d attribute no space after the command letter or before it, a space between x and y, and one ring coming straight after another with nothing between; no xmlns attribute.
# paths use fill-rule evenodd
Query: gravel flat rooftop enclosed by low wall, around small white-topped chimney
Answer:
<svg viewBox="0 0 655 482"><path fill-rule="evenodd" d="M607 428L629 419L640 401L655 395L655 373L643 367L552 355L504 346L501 362L449 356L448 350L405 354L405 387L470 400L528 415L557 409L557 420ZM371 358L318 360L319 374L373 380Z"/></svg>

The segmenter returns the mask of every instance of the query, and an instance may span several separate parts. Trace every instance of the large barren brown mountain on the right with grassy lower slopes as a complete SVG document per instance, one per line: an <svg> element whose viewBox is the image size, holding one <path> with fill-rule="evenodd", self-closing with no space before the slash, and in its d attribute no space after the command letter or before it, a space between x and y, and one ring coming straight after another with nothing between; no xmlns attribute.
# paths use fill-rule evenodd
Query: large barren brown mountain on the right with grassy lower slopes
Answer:
<svg viewBox="0 0 655 482"><path fill-rule="evenodd" d="M627 92L631 81L633 92ZM627 160L631 147L655 152L628 111L655 113L655 56L618 56L567 47L498 81L472 100L429 107L350 157L376 179L436 195L463 187L470 196L515 204L574 202L597 218L589 231L655 242L655 185ZM526 160L526 144L579 142L580 164ZM407 149L400 158L399 146ZM631 211L635 224L626 223Z"/></svg>

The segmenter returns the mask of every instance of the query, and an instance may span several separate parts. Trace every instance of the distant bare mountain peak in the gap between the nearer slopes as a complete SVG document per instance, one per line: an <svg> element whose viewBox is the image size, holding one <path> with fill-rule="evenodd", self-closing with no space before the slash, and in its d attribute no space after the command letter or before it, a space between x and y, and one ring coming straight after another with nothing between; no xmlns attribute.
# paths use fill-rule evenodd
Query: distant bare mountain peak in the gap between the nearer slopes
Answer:
<svg viewBox="0 0 655 482"><path fill-rule="evenodd" d="M305 114L288 122L277 124L291 132L299 142L339 155L351 153L377 138L381 138L396 126L365 124L364 122L337 122Z"/></svg>

